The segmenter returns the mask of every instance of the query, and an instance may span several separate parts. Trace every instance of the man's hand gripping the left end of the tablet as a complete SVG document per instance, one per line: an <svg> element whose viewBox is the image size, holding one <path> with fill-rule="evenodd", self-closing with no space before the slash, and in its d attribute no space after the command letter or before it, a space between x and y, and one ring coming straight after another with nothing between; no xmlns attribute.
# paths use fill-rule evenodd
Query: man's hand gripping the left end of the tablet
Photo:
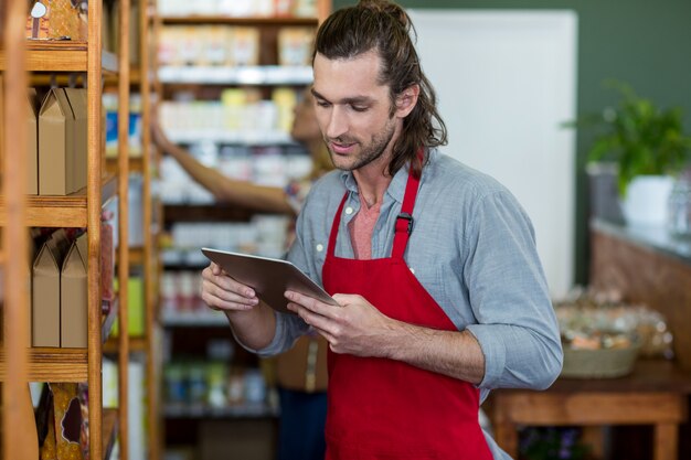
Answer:
<svg viewBox="0 0 691 460"><path fill-rule="evenodd" d="M213 310L247 311L259 304L251 287L235 281L216 264L202 271L202 300Z"/></svg>

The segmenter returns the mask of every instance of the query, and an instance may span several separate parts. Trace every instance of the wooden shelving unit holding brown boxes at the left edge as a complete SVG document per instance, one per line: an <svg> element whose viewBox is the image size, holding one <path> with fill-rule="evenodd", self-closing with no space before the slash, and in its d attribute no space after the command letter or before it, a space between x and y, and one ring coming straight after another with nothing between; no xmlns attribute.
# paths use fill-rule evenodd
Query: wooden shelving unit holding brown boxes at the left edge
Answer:
<svg viewBox="0 0 691 460"><path fill-rule="evenodd" d="M121 18L129 17L129 0L118 0ZM89 457L107 459L116 434L119 437L120 458L127 459L127 343L120 341L124 357L119 360L120 410L104 410L102 404L103 342L109 334L115 317L127 336L127 282L120 282L118 301L110 313L102 314L100 292L100 216L104 203L119 196L119 235L127 240L127 137L120 136L119 174L104 179L102 150L102 78L119 78L120 127L127 132L128 108L128 31L127 19L121 21L123 53L118 56L102 50L103 3L88 3L88 34L86 42L29 42L23 38L26 2L7 0L0 4L0 18L6 23L0 50L0 71L3 74L6 98L2 99L4 132L24 132L26 73L66 74L83 73L87 87L87 185L68 196L30 196L23 194L26 178L23 152L25 137L2 138L3 167L0 223L3 227L2 248L12 264L3 268L4 347L0 355L0 378L3 381L4 400L23 400L28 396L28 382L87 382ZM121 69L121 72L119 72ZM123 141L124 140L124 141ZM123 158L125 161L123 161ZM125 201L125 204L123 204ZM29 292L26 284L28 232L26 227L81 227L87 229L87 346L85 349L26 347L29 340ZM127 264L126 245L119 249L120 260ZM121 272L119 276L121 277ZM121 279L121 278L120 278ZM125 286L123 288L123 285ZM38 456L38 436L31 410L3 408L3 459L32 459Z"/></svg>

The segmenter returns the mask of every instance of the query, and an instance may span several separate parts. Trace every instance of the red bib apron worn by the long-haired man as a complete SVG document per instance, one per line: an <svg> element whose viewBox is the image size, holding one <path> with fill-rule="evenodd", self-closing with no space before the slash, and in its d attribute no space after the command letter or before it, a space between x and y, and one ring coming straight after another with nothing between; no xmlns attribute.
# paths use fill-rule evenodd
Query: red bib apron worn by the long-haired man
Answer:
<svg viewBox="0 0 691 460"><path fill-rule="evenodd" d="M334 256L343 196L329 236L323 286L359 293L387 317L456 331L403 259L419 181L408 175L390 258ZM400 361L329 350L327 460L491 460L478 422L479 391L471 384Z"/></svg>

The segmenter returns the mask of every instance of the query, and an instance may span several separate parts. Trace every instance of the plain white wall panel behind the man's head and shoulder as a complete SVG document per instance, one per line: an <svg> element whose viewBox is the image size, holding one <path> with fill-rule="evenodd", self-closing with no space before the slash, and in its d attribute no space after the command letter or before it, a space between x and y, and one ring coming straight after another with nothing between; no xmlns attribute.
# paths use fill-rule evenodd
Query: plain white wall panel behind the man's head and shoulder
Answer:
<svg viewBox="0 0 691 460"><path fill-rule="evenodd" d="M574 277L576 29L571 11L413 10L444 151L518 197L553 296Z"/></svg>

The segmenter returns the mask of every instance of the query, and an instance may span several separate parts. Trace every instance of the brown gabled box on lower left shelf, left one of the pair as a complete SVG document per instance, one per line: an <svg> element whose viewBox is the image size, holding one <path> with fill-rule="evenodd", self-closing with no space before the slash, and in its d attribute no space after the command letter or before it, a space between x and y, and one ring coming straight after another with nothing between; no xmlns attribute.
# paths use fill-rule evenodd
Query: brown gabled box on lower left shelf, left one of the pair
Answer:
<svg viewBox="0 0 691 460"><path fill-rule="evenodd" d="M67 247L64 229L41 246L32 270L32 346L60 346L60 268Z"/></svg>

